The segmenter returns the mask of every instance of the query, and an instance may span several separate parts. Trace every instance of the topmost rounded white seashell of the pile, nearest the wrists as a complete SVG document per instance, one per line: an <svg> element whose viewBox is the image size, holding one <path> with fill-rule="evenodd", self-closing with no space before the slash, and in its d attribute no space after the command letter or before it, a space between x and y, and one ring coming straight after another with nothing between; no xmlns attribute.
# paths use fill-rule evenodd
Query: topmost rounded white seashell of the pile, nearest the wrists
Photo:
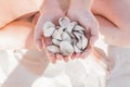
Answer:
<svg viewBox="0 0 130 87"><path fill-rule="evenodd" d="M70 23L70 20L68 17L61 17L58 20L58 23L60 23L60 26L63 27L63 28L67 28L67 26L69 25Z"/></svg>

